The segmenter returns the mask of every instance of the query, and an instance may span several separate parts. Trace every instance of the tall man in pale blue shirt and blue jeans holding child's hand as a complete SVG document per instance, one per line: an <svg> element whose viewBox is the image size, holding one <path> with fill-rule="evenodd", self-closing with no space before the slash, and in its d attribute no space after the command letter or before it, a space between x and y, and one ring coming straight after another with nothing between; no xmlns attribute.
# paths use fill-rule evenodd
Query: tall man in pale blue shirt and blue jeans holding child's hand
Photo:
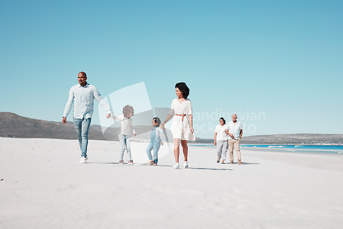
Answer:
<svg viewBox="0 0 343 229"><path fill-rule="evenodd" d="M102 95L97 88L86 82L87 75L83 71L78 74L79 84L72 86L69 91L69 98L64 108L62 123L67 123L67 116L71 111L71 106L74 104L73 121L75 130L78 133L78 140L81 149L80 163L86 163L87 145L88 145L88 130L91 125L93 115L94 99L108 112L107 118L110 117L110 106L106 104Z"/></svg>

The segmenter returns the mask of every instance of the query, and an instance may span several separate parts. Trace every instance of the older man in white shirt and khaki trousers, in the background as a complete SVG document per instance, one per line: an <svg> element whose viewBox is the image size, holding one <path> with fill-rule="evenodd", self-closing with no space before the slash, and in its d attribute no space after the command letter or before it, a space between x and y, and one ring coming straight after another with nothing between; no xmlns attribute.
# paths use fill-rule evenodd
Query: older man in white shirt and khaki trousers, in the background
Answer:
<svg viewBox="0 0 343 229"><path fill-rule="evenodd" d="M235 147L235 152L237 154L237 163L241 165L241 151L239 150L239 141L241 140L241 135L243 130L241 128L241 122L237 121L237 115L233 114L231 117L233 120L228 122L228 129L225 130L228 134L228 154L230 156L230 164L233 164L233 147Z"/></svg>

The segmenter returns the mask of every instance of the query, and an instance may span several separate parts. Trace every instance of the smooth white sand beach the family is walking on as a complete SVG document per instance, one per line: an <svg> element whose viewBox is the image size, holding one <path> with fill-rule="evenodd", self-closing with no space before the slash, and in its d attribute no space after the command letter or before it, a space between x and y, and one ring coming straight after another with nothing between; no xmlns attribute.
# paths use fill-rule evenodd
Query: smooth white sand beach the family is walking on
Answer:
<svg viewBox="0 0 343 229"><path fill-rule="evenodd" d="M166 149L152 167L132 143L119 165L119 142L89 141L80 165L77 141L0 138L0 228L343 228L343 156L242 149L220 165L190 146L174 169Z"/></svg>

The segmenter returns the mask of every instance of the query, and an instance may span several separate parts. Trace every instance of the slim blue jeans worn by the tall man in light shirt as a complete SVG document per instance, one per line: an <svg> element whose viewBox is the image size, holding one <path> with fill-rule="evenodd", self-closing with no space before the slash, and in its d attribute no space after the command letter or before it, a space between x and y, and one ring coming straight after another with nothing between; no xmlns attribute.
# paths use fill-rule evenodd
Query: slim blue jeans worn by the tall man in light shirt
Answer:
<svg viewBox="0 0 343 229"><path fill-rule="evenodd" d="M91 125L91 118L89 119L75 119L74 118L75 130L78 133L78 140L81 149L81 156L87 156L87 145L88 145L88 130Z"/></svg>

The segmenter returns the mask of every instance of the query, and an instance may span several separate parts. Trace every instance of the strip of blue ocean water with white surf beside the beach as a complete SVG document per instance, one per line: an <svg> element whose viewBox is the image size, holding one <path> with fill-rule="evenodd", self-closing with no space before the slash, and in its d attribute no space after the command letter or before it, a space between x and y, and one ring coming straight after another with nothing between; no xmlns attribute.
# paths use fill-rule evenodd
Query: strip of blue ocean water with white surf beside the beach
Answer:
<svg viewBox="0 0 343 229"><path fill-rule="evenodd" d="M215 147L213 144L191 144L199 147ZM274 152L294 152L308 154L341 154L343 156L343 145L249 145L241 144L241 150L260 150Z"/></svg>

